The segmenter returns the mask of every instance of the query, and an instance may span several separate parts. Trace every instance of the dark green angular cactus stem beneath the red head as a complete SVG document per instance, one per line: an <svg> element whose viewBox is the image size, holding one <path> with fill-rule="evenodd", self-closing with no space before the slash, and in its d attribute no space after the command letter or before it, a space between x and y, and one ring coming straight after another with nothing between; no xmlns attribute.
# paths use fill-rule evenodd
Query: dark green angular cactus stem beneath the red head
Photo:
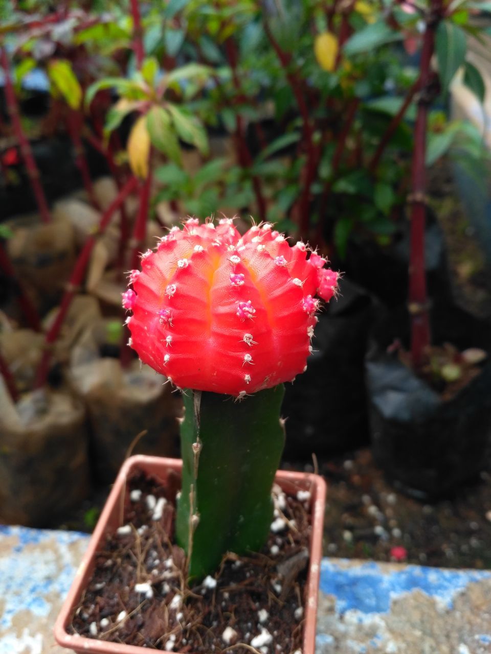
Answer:
<svg viewBox="0 0 491 654"><path fill-rule="evenodd" d="M285 439L279 418L283 394L283 385L241 402L223 394L186 392L176 532L188 556L190 579L213 574L227 551L243 555L266 542L271 489Z"/></svg>

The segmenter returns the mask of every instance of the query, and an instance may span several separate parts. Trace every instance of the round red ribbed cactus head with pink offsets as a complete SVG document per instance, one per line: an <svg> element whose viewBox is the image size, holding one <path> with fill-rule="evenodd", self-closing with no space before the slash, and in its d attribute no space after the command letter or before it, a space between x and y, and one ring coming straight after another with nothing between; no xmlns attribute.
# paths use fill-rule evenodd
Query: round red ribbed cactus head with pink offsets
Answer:
<svg viewBox="0 0 491 654"><path fill-rule="evenodd" d="M232 220L188 220L130 273L123 294L132 347L181 388L243 397L291 381L306 366L318 300L338 274L270 224L243 237Z"/></svg>

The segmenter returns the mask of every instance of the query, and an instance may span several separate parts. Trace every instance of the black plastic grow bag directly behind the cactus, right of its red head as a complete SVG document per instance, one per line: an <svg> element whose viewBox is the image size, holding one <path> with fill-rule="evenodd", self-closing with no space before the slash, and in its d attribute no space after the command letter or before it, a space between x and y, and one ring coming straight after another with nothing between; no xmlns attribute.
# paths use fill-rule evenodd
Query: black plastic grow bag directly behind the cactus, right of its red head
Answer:
<svg viewBox="0 0 491 654"><path fill-rule="evenodd" d="M307 370L285 384L286 456L310 458L369 439L363 361L373 318L371 296L347 279L319 315Z"/></svg>

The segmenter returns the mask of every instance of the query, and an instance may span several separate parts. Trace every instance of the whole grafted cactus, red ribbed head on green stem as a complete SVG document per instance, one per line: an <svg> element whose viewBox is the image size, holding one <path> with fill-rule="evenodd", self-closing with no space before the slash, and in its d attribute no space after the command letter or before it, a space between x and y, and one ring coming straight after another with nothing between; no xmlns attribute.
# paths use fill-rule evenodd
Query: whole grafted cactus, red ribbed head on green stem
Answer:
<svg viewBox="0 0 491 654"><path fill-rule="evenodd" d="M227 551L257 551L266 541L284 441L282 382L305 369L314 296L331 300L338 279L308 254L270 224L241 237L228 218L217 226L190 218L130 273L130 345L188 389L176 536L189 577L213 572Z"/></svg>

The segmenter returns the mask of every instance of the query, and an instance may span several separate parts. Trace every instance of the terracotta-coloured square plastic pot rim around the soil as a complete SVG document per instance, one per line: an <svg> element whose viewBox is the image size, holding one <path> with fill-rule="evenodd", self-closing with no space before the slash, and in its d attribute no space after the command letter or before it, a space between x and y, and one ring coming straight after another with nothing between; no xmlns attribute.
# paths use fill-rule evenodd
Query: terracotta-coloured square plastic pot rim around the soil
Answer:
<svg viewBox="0 0 491 654"><path fill-rule="evenodd" d="M119 526L122 526L126 479L133 472L145 472L148 475L158 478L165 485L170 476L175 477L176 473L180 476L181 469L182 461L179 459L138 455L126 460L109 494L109 498L107 498L94 534L92 534L92 538L88 544L88 549L77 570L75 580L71 585L60 615L58 615L58 619L56 620L54 636L59 645L84 654L144 654L149 651L147 647L137 647L136 645L124 645L96 640L95 638L74 636L68 633L67 627L71 621L73 611L79 603L84 589L86 589L92 576L95 567L96 552L100 549L106 536L115 532ZM306 597L304 598L305 623L302 654L314 654L325 510L325 481L319 475L302 472L284 472L282 470L276 473L275 481L287 494L296 494L299 490L309 490L312 496L312 534L310 538L310 562ZM192 654L208 653L194 652Z"/></svg>

